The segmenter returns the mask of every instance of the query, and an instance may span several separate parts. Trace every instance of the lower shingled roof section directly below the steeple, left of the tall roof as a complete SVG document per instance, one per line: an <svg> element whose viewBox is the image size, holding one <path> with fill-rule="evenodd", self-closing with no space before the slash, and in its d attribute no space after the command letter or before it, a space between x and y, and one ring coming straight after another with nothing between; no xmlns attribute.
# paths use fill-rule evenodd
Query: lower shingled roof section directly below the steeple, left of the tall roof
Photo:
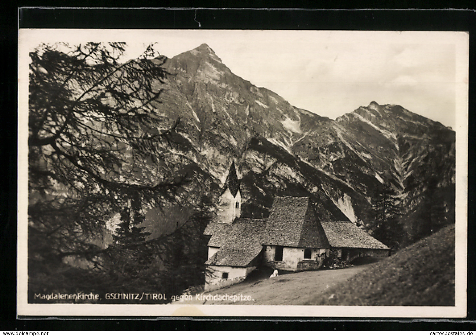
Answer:
<svg viewBox="0 0 476 336"><path fill-rule="evenodd" d="M208 246L220 247L206 264L246 267L262 249L266 220L238 218L231 224L214 227ZM212 228L210 228L211 230Z"/></svg>

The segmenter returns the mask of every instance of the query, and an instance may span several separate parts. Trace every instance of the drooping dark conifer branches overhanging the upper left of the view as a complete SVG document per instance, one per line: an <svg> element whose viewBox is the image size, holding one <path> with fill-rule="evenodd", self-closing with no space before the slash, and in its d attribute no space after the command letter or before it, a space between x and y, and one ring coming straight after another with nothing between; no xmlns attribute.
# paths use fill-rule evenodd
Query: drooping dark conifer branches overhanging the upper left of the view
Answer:
<svg viewBox="0 0 476 336"><path fill-rule="evenodd" d="M176 202L193 182L168 168L191 147L176 141L179 120L164 124L156 111L166 58L149 47L123 61L125 48L58 43L30 53L30 232L50 240L34 255L90 255L132 196L149 207Z"/></svg>

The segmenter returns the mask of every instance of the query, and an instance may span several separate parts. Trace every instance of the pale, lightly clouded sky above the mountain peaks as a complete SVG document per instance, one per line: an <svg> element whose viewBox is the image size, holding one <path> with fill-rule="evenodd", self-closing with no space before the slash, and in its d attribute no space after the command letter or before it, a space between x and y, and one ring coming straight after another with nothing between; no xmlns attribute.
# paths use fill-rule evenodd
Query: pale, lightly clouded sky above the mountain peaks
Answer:
<svg viewBox="0 0 476 336"><path fill-rule="evenodd" d="M461 87L456 84L464 81L457 52L464 37L455 32L174 29L88 30L87 35L66 30L62 35L63 30L55 30L51 36L48 29L41 32L43 42L125 41L127 58L154 42L155 49L169 58L206 43L237 76L276 92L293 106L332 119L376 101L401 105L455 128L456 91ZM37 37L35 43L40 40Z"/></svg>

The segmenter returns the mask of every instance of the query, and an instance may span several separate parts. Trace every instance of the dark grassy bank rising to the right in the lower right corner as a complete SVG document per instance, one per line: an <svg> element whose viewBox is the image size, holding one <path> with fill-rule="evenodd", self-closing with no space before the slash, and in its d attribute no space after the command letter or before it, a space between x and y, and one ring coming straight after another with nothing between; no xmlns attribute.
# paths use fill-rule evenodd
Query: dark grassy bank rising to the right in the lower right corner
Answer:
<svg viewBox="0 0 476 336"><path fill-rule="evenodd" d="M455 305L455 226L310 298L311 305Z"/></svg>

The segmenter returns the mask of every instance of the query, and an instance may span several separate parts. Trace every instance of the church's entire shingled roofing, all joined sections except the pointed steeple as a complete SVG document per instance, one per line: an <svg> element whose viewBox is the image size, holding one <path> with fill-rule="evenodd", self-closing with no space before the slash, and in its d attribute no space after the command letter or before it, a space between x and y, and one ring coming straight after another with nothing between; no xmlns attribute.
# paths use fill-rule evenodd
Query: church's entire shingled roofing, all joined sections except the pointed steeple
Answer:
<svg viewBox="0 0 476 336"><path fill-rule="evenodd" d="M263 245L389 249L350 221L319 221L308 197L276 197L267 219L212 221L203 233L219 248L206 264L217 266L247 267Z"/></svg>

